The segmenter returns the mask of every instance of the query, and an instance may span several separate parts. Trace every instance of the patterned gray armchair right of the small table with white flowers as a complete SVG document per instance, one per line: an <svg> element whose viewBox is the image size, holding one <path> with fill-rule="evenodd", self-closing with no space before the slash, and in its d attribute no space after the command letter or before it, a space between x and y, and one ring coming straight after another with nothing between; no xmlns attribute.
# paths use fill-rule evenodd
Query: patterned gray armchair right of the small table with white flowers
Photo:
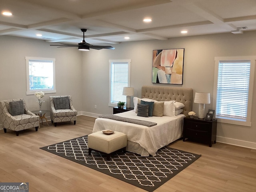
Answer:
<svg viewBox="0 0 256 192"><path fill-rule="evenodd" d="M77 111L73 107L72 97L50 96L50 117L54 126L57 122L74 121L76 124Z"/></svg>

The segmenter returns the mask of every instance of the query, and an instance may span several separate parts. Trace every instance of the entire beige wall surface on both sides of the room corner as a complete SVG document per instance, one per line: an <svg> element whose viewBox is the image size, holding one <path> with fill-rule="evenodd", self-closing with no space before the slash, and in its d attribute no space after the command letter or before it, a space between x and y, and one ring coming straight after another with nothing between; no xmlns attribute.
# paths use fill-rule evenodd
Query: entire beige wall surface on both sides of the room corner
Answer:
<svg viewBox="0 0 256 192"><path fill-rule="evenodd" d="M26 95L25 56L56 58L56 94L46 94L43 109L49 109L50 95L71 94L75 108L82 114L98 116L112 114L108 106L110 59L131 59L131 86L140 97L142 85L151 83L152 50L185 48L183 85L195 92L210 92L212 106L214 57L256 55L256 33L234 35L214 34L172 38L167 41L151 40L125 42L114 45L115 50L55 48L41 40L0 36L0 100L24 98L30 110L37 110L34 95ZM15 46L14 46L15 45ZM256 74L256 72L255 72ZM164 85L162 86L170 86ZM256 100L254 78L253 100ZM94 109L97 105L97 109ZM132 104L133 105L133 104ZM198 113L198 104L193 104ZM252 127L218 124L217 141L256 148L256 108L252 107Z"/></svg>

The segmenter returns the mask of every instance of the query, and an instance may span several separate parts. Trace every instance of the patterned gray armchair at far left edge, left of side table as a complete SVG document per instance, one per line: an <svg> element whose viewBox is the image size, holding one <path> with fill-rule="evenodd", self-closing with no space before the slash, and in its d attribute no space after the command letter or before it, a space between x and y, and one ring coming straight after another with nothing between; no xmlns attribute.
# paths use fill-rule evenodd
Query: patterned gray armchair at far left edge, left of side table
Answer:
<svg viewBox="0 0 256 192"><path fill-rule="evenodd" d="M6 129L16 131L16 136L20 130L36 128L39 126L39 116L28 110L24 99L3 100L0 102L0 118L4 132Z"/></svg>

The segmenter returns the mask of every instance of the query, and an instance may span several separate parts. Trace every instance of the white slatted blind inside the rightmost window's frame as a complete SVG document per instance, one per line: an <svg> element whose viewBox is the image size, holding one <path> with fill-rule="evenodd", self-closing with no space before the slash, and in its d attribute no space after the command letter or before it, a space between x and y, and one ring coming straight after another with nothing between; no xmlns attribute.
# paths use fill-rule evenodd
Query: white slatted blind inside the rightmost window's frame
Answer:
<svg viewBox="0 0 256 192"><path fill-rule="evenodd" d="M250 60L220 61L216 118L246 121L250 82Z"/></svg>

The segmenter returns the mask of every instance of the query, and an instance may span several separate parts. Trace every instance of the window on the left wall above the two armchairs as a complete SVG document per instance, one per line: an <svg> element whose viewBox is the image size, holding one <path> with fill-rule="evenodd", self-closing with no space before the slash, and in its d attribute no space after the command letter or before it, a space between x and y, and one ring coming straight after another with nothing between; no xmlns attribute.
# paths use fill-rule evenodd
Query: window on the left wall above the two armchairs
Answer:
<svg viewBox="0 0 256 192"><path fill-rule="evenodd" d="M55 59L26 57L27 95L37 91L56 93Z"/></svg>

